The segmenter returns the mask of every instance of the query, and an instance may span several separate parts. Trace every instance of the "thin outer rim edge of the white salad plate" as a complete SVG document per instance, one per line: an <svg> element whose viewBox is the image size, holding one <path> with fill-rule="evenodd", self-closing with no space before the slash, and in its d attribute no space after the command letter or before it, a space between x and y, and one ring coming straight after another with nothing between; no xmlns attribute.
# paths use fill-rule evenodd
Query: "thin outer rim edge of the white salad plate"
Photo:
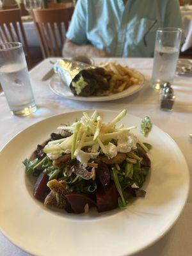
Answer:
<svg viewBox="0 0 192 256"><path fill-rule="evenodd" d="M43 118L42 120L39 120L37 122L35 122L34 124L31 124L29 125L28 127L26 127L25 129L22 129L22 131L20 132L17 132L17 134L15 134L15 136L13 136L13 138L11 138L10 140L8 140L4 146L1 148L0 150L0 156L1 156L1 152L4 150L5 147L8 146L8 144L14 140L17 136L19 136L22 132L28 130L28 129L31 129L31 127L35 126L36 124L39 124L40 122L44 122L46 120L51 120L51 118L54 118L56 116L62 116L62 115L65 115L65 114L68 114L68 113L81 113L83 111L94 111L95 109L79 109L79 110L72 110L72 111L65 111L65 113L60 113L60 114L56 114L56 115L51 115L47 118ZM97 109L97 111L101 111L101 112L111 112L111 113L118 113L119 111L117 110L110 110L110 109ZM136 118L140 118L140 116L136 116L136 115L132 115L132 114L129 114L129 116L133 116L133 117L136 117ZM141 119L141 118L140 118ZM154 124L153 124L154 125ZM175 223L177 222L178 218L180 217L180 215L182 214L182 211L184 210L184 207L186 206L187 204L187 201L188 201L188 196L189 196L189 189L190 189L190 172L189 172L189 167L188 167L188 163L186 161L186 158L184 156L184 154L182 153L182 150L180 150L180 147L179 145L177 145L177 143L175 142L175 140L173 140L172 136L170 136L170 134L168 134L167 132L164 132L163 129L159 128L157 125L154 125L154 127L156 127L157 129L159 129L160 131L162 131L173 143L174 145L177 147L177 150L179 150L179 154L180 156L182 156L182 159L184 160L184 169L186 170L186 175L188 177L188 179L186 180L186 189L187 189L187 192L186 192L186 197L184 200L182 200L182 206L180 207L179 209L179 212L177 212L177 216L175 216L174 220L171 221L171 224L170 225L167 225L166 228L164 228L163 232L161 232L161 234L159 234L159 236L157 236L155 239L152 239L150 241L150 243L148 244L145 244L145 246L141 246L141 248L138 248L136 250L134 250L133 252L131 252L131 254L128 254L128 255L134 255L135 253L140 253L142 252L143 250L147 249L148 247L152 246L153 244L157 243L157 241L159 241L165 234L167 234L169 232L169 230L175 225ZM24 252L27 252L27 253L30 253L33 255L33 252L31 252L30 250L22 247L22 245L20 244L17 244L15 243L12 238L10 238L8 236L8 234L6 234L6 231L3 230L3 228L1 228L0 226L0 231L2 232L2 234L6 237L6 239L8 239L11 243L13 243L15 246L17 246L17 248L20 248L20 250L23 250ZM125 254L127 255L127 254Z"/></svg>

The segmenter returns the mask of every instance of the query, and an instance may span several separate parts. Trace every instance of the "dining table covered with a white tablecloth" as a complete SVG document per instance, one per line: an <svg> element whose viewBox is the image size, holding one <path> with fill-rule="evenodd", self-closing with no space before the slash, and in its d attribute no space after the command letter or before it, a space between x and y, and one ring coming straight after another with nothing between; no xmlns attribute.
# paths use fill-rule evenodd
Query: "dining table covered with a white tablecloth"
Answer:
<svg viewBox="0 0 192 256"><path fill-rule="evenodd" d="M153 125L157 125L169 134L179 145L186 158L189 172L192 172L192 79L191 77L175 76L173 90L175 102L172 111L160 109L159 92L150 86L152 75L152 58L95 58L95 63L116 61L121 65L135 68L145 76L145 84L139 92L118 100L107 102L83 102L67 99L52 92L49 83L42 81L42 77L52 68L52 62L58 58L47 58L38 63L29 71L33 93L36 100L37 111L29 116L11 115L3 92L0 93L0 149L12 140L20 131L44 120L52 115L67 113L79 109L110 109L127 112L143 118L150 116ZM159 156L161 157L161 156ZM2 171L2 170L1 170ZM3 170L6 172L6 170ZM15 177L17 179L17 177ZM177 189L177 188L175 188ZM1 198L0 198L1 200ZM156 243L145 248L136 256L190 256L192 255L192 191L189 191L188 200L179 219L164 236L159 237ZM19 234L18 234L19 236ZM13 241L14 243L14 241ZM3 256L27 256L29 253L15 246L0 232L0 255ZM79 255L81 253L79 252Z"/></svg>

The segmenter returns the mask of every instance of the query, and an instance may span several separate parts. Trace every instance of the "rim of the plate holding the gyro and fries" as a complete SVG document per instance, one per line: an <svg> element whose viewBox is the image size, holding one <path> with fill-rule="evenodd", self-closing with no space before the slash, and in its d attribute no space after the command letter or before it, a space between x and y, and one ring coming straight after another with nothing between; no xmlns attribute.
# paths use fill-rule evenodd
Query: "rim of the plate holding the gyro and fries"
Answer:
<svg viewBox="0 0 192 256"><path fill-rule="evenodd" d="M136 88L136 90L134 90L133 92L130 92L130 93L127 93L127 94L126 94L126 90L129 90L129 88L122 91L122 92L125 92L124 94L120 94L120 93L122 93L122 92L120 92L120 93L114 93L114 94L111 94L111 95L95 96L95 97L82 97L82 96L81 97L79 97L79 96L76 97L74 95L65 96L62 93L60 93L60 92L58 92L54 89L54 85L53 85L54 79L55 79L55 77L60 77L56 73L51 77L51 79L49 81L49 88L56 95L59 95L60 97L62 97L64 99L70 99L70 100L86 101L86 102L102 102L102 101L111 101L111 100L123 99L125 97L129 97L129 96L133 95L134 93L139 92L143 88L143 86L145 86L145 83L146 83L145 76L141 72L139 72L138 70L135 70L134 68L131 68L131 69L134 70L134 72L136 72L137 74L139 74L141 76L141 82L140 82L140 84L133 84L133 86L138 85L139 87ZM66 86L66 85L64 85L64 86Z"/></svg>

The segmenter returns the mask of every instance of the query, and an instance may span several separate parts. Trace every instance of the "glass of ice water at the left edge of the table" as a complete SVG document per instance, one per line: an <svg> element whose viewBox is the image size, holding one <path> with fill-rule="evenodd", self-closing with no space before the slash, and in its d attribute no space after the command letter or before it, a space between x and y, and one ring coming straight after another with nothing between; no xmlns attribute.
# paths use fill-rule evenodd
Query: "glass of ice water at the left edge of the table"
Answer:
<svg viewBox="0 0 192 256"><path fill-rule="evenodd" d="M12 114L26 116L36 111L22 44L0 44L0 82Z"/></svg>

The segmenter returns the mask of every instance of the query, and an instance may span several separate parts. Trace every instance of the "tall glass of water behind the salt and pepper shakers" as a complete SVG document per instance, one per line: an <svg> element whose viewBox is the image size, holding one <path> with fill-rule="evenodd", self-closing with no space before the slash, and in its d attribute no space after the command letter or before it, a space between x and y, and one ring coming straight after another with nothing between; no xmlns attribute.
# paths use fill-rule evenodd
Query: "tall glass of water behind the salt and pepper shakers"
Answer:
<svg viewBox="0 0 192 256"><path fill-rule="evenodd" d="M159 28L156 33L152 88L159 90L164 83L173 82L183 29Z"/></svg>

